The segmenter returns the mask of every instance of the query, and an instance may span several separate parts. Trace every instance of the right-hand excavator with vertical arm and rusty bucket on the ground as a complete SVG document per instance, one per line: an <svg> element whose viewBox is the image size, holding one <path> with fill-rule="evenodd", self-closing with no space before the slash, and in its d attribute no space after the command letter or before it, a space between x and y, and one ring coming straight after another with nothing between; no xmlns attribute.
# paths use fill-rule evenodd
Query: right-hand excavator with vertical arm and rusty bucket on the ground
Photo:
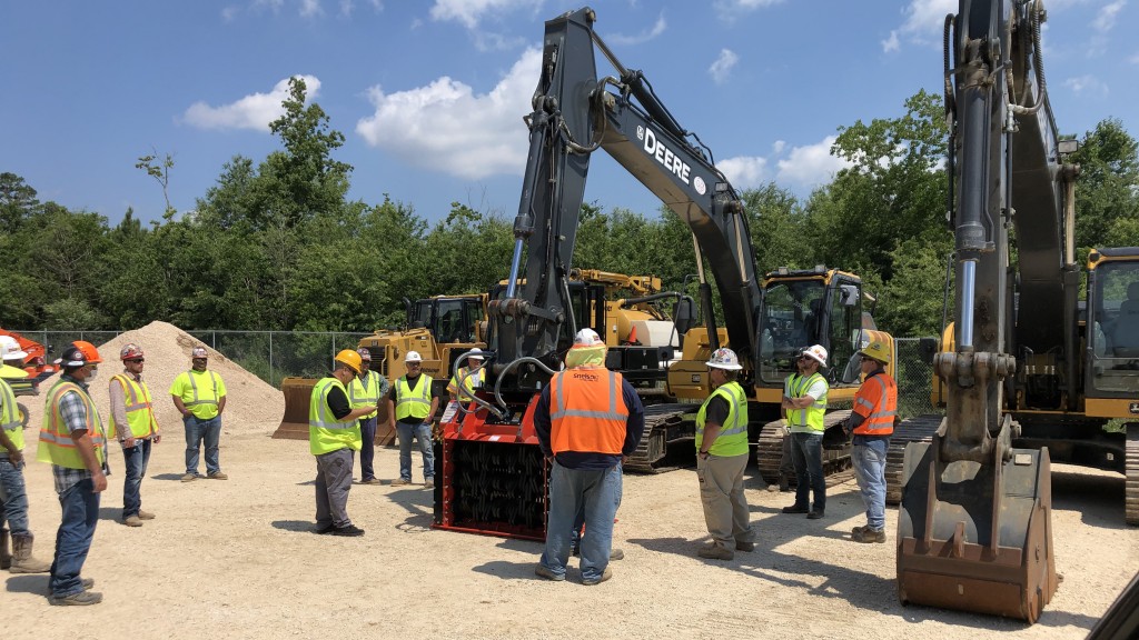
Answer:
<svg viewBox="0 0 1139 640"><path fill-rule="evenodd" d="M904 452L898 525L903 604L1029 623L1057 589L1051 460L1124 473L1139 516L1139 248L1093 251L1081 305L1044 17L1039 0L960 0L945 20L954 321L934 359L944 418L902 425L936 433Z"/></svg>

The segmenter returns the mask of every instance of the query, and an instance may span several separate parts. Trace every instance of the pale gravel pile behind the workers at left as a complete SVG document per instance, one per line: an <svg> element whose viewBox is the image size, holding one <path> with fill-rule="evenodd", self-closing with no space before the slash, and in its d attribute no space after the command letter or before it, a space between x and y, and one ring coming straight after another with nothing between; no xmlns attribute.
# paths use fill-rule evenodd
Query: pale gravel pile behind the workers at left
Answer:
<svg viewBox="0 0 1139 640"><path fill-rule="evenodd" d="M170 397L170 385L179 374L190 368L190 350L195 346L204 346L210 352L210 369L221 376L226 383L223 432L264 430L265 422L279 421L285 412L285 400L279 389L246 371L238 363L226 358L224 354L202 344L178 327L169 322L155 321L141 329L120 334L112 340L96 345L99 348L99 355L103 356L103 364L99 366L98 377L91 383L90 391L105 422L109 422L110 419L107 385L112 376L123 370L118 360L118 351L128 343L139 345L146 353L142 379L150 387L158 426L165 430L167 437L180 438L182 434L182 417ZM22 399L28 408L30 428L39 428L43 416L43 395L56 379L52 377L40 387L40 397Z"/></svg>

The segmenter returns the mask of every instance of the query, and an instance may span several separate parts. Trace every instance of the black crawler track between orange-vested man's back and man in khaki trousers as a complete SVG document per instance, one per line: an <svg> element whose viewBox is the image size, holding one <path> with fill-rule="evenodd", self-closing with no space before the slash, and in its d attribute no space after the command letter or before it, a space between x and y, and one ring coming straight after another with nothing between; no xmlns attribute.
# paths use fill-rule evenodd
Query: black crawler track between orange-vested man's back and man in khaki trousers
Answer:
<svg viewBox="0 0 1139 640"><path fill-rule="evenodd" d="M624 470L661 474L695 463L693 443L696 440L695 417L699 408L699 404L675 403L646 407L645 435L641 436L637 451L625 460ZM686 457L685 453L689 456ZM681 460L683 462L678 463Z"/></svg>

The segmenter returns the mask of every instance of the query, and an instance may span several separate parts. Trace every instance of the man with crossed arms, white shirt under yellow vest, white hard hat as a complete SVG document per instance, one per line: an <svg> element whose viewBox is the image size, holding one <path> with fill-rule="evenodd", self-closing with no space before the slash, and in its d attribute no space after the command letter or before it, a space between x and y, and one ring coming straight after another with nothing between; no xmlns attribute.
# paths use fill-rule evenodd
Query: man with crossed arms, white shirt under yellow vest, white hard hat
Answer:
<svg viewBox="0 0 1139 640"><path fill-rule="evenodd" d="M798 374L784 384L780 412L790 427L792 460L795 463L795 503L784 514L806 514L810 519L823 516L827 508L827 478L822 475L822 417L827 411L829 386L819 369L827 366L827 350L813 345L796 362ZM811 504L811 492L814 503Z"/></svg>

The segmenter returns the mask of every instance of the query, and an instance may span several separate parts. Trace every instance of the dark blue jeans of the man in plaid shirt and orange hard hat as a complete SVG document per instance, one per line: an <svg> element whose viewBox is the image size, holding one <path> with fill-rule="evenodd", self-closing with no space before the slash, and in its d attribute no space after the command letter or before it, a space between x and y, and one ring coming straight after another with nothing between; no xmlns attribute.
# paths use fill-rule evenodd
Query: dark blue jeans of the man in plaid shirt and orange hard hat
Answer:
<svg viewBox="0 0 1139 640"><path fill-rule="evenodd" d="M99 494L91 478L82 479L59 494L64 517L56 531L56 555L51 560L48 588L57 598L83 591L80 574L99 522Z"/></svg>

